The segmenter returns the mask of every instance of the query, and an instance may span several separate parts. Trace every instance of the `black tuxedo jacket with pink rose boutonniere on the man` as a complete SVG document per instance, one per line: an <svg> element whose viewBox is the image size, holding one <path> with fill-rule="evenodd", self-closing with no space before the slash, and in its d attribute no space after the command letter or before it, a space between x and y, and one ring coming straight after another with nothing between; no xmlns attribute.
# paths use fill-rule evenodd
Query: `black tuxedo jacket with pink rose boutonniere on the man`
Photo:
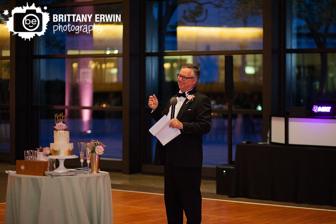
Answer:
<svg viewBox="0 0 336 224"><path fill-rule="evenodd" d="M189 92L195 96L194 100L188 102L189 100L185 98L177 116L175 114L175 117L183 124L181 134L165 146L159 140L157 141L154 155L155 165L164 165L167 154L176 167L202 167L202 135L210 132L212 110L209 98L194 89ZM156 121L160 120L163 115L168 115L170 99L163 111L158 107L151 113Z"/></svg>

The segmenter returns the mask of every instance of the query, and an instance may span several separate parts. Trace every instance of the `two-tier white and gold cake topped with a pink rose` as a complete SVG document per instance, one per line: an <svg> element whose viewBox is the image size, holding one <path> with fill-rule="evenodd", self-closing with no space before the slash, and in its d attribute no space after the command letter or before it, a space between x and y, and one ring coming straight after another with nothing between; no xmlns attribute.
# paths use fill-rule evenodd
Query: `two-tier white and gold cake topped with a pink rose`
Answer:
<svg viewBox="0 0 336 224"><path fill-rule="evenodd" d="M70 132L65 130L67 126L62 123L56 123L54 130L54 142L50 143L50 153L53 156L69 156L74 154L74 143L69 143Z"/></svg>

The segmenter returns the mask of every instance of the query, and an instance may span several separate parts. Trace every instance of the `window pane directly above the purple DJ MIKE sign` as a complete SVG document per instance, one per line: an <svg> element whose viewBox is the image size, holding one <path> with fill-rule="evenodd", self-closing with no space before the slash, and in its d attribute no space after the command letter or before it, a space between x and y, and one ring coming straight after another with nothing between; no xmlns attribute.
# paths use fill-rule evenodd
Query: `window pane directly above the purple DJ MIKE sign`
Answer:
<svg viewBox="0 0 336 224"><path fill-rule="evenodd" d="M293 53L288 58L287 110L289 106L309 110L313 101L336 101L336 53Z"/></svg>

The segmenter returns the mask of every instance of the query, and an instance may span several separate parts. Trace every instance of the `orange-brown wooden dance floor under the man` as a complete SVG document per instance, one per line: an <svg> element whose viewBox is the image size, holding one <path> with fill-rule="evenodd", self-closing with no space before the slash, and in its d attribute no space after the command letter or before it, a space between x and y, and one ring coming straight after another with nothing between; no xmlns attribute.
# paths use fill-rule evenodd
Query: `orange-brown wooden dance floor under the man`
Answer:
<svg viewBox="0 0 336 224"><path fill-rule="evenodd" d="M115 224L167 223L162 194L112 190ZM5 222L5 203L0 204L0 224ZM202 223L335 223L336 211L228 200L202 200ZM184 223L186 219L184 217Z"/></svg>

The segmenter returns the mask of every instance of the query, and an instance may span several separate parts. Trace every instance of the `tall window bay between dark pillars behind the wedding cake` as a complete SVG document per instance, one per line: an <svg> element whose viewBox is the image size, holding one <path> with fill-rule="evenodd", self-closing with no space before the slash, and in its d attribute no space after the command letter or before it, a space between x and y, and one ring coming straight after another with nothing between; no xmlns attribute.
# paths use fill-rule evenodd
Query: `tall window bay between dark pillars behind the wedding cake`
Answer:
<svg viewBox="0 0 336 224"><path fill-rule="evenodd" d="M76 6L62 7L71 2ZM86 5L84 1L58 0L37 3L45 4L50 13L46 33L33 40L33 108L39 114L37 138L41 146L53 142L54 114L63 112L74 152L78 150L77 142L95 139L107 145L102 158L122 159L123 23L117 16L122 14L122 4L94 5L92 1L92 5ZM64 14L79 14L82 18L92 15L92 19L60 21L59 15ZM115 17L110 21L99 17L96 22L98 14ZM106 56L98 58L95 54Z"/></svg>

